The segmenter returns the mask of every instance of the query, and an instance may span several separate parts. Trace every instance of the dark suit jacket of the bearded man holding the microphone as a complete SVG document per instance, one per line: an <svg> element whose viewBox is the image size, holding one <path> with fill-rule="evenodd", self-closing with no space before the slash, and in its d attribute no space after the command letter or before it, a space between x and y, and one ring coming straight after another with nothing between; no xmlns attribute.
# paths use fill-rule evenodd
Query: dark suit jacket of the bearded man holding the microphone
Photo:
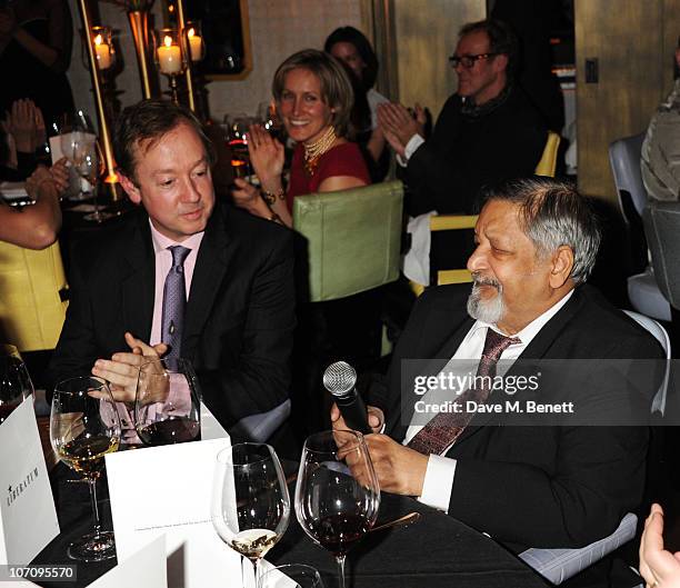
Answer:
<svg viewBox="0 0 680 588"><path fill-rule="evenodd" d="M387 387L374 386L369 403L383 408L386 431L401 441L411 420L401 411L404 359L453 356L473 325L466 312L469 286L428 290L418 301L399 340ZM616 370L599 372L608 359L662 358L657 341L634 321L611 307L589 286L539 331L521 359L587 359L557 378L541 382L537 399L572 400L581 415L623 407L639 415L641 426L577 426L540 422L503 426L507 416L477 415L447 454L458 460L449 515L504 542L513 551L527 547L580 547L611 534L622 516L642 497L648 442L646 416L658 389L657 361L632 366L632 378ZM592 361L596 360L596 361ZM438 363L438 366L437 366ZM521 369L521 362L508 375ZM543 361L542 365L548 362ZM612 363L612 362L609 362ZM431 373L438 373L433 362ZM613 371L613 372L612 372ZM579 376L583 376L580 378ZM630 376L630 373L629 373ZM412 382L407 382L412 389ZM522 401L531 392L518 392ZM504 395L500 395L501 397ZM491 399L498 396L496 392ZM493 400L490 400L493 401ZM606 412L607 413L607 412Z"/></svg>

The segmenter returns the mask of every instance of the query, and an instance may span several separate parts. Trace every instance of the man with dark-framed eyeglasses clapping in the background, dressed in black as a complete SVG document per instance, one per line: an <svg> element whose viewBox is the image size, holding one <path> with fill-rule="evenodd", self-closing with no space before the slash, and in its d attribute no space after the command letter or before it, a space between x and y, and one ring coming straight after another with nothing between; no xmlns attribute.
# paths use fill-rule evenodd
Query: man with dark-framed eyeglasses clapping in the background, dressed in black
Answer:
<svg viewBox="0 0 680 588"><path fill-rule="evenodd" d="M398 103L379 107L379 121L406 167L414 193L410 212L478 211L483 185L533 175L547 139L541 117L512 83L518 49L507 24L466 24L449 58L458 74L451 96L426 141L421 126ZM419 114L419 111L417 112Z"/></svg>

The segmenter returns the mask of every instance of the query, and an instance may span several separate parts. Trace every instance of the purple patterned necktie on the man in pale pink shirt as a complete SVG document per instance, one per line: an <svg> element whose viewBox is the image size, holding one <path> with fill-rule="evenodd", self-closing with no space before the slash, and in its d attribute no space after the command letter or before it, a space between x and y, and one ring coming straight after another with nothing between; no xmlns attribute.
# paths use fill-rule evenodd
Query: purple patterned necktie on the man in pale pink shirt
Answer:
<svg viewBox="0 0 680 588"><path fill-rule="evenodd" d="M166 359L170 362L176 362L180 357L184 307L187 306L184 259L187 259L191 249L187 249L179 245L174 245L168 249L172 253L172 267L170 271L168 271L166 286L163 287L161 341L170 347L170 350L164 356Z"/></svg>

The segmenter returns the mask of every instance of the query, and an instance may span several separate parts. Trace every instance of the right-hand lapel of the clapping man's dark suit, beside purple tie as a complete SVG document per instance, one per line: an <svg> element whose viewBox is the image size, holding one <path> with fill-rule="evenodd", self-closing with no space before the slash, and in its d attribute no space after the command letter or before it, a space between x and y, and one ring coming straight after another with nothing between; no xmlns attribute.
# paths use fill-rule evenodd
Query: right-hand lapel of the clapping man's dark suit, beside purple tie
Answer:
<svg viewBox="0 0 680 588"><path fill-rule="evenodd" d="M212 212L196 260L182 335L182 353L187 352L187 357L192 356L233 256L226 213L217 208Z"/></svg>

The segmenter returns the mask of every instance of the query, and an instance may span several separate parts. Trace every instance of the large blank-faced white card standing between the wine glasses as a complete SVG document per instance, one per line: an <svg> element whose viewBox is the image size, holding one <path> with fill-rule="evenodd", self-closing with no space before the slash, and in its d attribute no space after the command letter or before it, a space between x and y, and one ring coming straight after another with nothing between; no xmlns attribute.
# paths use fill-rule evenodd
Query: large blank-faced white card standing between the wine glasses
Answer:
<svg viewBox="0 0 680 588"><path fill-rule="evenodd" d="M107 474L118 561L166 535L171 588L223 588L240 556L210 519L213 472L228 438L109 454Z"/></svg>

